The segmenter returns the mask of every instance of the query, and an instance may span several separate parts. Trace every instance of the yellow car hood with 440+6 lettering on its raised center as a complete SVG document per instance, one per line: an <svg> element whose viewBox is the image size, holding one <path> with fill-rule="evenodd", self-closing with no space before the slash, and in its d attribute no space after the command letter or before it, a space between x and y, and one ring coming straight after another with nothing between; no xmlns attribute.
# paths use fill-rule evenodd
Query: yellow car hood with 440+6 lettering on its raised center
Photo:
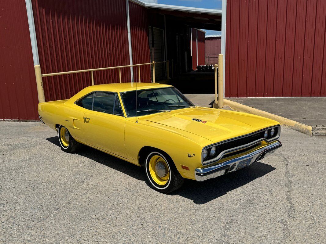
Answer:
<svg viewBox="0 0 326 244"><path fill-rule="evenodd" d="M257 115L202 107L154 114L145 120L191 132L213 143L279 124Z"/></svg>

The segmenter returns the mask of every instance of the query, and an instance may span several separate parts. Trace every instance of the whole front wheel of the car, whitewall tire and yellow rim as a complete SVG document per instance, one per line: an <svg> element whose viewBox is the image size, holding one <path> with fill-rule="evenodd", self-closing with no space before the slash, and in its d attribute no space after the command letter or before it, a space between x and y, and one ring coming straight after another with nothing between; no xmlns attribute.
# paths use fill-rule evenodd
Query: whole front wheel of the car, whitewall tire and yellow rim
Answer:
<svg viewBox="0 0 326 244"><path fill-rule="evenodd" d="M144 169L149 185L162 193L179 189L185 181L172 159L163 152L149 153L145 159Z"/></svg>

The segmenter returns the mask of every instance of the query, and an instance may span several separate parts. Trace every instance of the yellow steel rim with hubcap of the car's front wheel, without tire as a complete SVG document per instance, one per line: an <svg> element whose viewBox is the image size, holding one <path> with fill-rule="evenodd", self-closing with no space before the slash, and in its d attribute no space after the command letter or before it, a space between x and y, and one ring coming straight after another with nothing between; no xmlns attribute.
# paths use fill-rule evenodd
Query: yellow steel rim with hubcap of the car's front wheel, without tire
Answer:
<svg viewBox="0 0 326 244"><path fill-rule="evenodd" d="M149 173L158 185L165 185L170 178L168 163L160 155L154 155L149 160Z"/></svg>

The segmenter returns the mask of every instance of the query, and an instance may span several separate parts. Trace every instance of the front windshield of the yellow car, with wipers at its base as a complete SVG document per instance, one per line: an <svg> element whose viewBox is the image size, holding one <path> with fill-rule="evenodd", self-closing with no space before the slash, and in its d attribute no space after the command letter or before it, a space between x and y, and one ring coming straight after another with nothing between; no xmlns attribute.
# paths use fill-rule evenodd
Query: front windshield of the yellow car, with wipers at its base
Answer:
<svg viewBox="0 0 326 244"><path fill-rule="evenodd" d="M136 116L136 91L121 93L128 117ZM193 107L175 88L158 88L137 91L138 116L170 112L171 110Z"/></svg>

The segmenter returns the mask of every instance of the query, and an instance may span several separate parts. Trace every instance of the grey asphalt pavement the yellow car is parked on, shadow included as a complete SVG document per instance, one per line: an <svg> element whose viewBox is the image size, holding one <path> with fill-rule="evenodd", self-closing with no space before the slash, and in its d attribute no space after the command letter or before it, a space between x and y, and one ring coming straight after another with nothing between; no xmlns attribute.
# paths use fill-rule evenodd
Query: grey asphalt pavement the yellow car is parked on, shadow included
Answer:
<svg viewBox="0 0 326 244"><path fill-rule="evenodd" d="M0 122L0 243L325 243L325 137L282 128L260 162L170 195L140 167Z"/></svg>

